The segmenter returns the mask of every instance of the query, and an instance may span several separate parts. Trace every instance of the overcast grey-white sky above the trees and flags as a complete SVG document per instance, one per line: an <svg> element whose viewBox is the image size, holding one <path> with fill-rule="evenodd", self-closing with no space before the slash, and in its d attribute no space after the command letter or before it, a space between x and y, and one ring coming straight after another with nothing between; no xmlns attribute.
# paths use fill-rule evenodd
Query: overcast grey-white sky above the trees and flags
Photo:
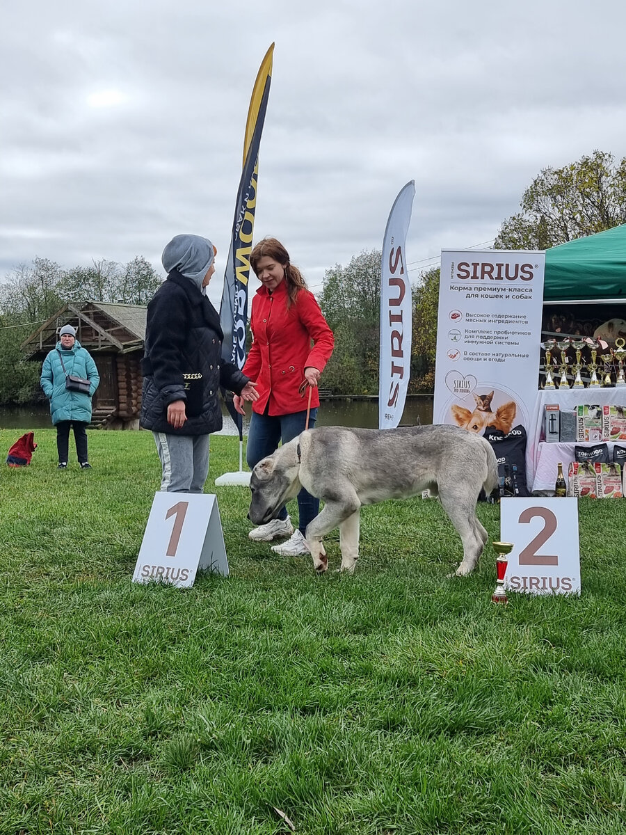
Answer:
<svg viewBox="0 0 626 835"><path fill-rule="evenodd" d="M30 0L0 22L0 280L35 256L162 272L194 232L218 247L219 306L272 42L255 240L280 238L314 291L381 248L408 180L417 278L489 245L542 168L626 155L623 0Z"/></svg>

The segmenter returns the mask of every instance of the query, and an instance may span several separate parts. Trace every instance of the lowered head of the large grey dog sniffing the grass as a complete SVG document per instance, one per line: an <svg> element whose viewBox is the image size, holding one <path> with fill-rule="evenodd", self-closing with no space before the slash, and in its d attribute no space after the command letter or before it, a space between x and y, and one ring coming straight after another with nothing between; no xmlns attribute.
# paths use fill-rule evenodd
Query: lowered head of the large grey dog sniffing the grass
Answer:
<svg viewBox="0 0 626 835"><path fill-rule="evenodd" d="M300 492L300 461L290 444L263 458L250 476L250 510L248 518L254 524L266 524L275 519L280 509Z"/></svg>

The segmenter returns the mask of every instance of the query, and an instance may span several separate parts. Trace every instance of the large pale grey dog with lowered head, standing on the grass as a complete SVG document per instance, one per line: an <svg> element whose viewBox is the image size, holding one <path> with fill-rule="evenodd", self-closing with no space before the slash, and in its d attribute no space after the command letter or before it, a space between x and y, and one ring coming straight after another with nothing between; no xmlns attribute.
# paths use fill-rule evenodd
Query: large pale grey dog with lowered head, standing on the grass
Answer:
<svg viewBox="0 0 626 835"><path fill-rule="evenodd" d="M250 519L265 524L301 487L324 501L307 525L305 539L316 571L328 569L322 537L339 525L341 570L353 571L359 556L363 504L407 498L429 489L463 543L457 574L469 574L487 541L477 519L478 493L497 486L496 456L479 435L454 426L399 429L308 429L252 471Z"/></svg>

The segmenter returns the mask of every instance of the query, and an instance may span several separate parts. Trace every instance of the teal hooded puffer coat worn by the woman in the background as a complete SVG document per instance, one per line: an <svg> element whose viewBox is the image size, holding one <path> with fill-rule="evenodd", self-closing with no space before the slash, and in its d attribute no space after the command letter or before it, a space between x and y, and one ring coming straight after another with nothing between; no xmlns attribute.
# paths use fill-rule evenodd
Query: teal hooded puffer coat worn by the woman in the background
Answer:
<svg viewBox="0 0 626 835"><path fill-rule="evenodd" d="M59 352L63 354L61 365ZM74 374L76 377L83 377L91 382L88 394L83 392L70 392L65 387L65 375ZM53 426L63 420L80 420L84 423L91 421L91 398L93 392L98 388L100 376L91 354L81 346L78 339L74 342L69 351L64 351L61 343L43 360L41 371L41 387L43 393L50 401L50 413L53 418Z"/></svg>

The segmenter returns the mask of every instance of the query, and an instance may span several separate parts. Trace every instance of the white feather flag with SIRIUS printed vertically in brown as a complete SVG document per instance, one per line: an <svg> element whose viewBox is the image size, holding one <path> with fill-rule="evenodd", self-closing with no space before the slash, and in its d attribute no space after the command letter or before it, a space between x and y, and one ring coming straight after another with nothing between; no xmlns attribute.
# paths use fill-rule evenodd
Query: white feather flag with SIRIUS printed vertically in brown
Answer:
<svg viewBox="0 0 626 835"><path fill-rule="evenodd" d="M406 270L406 233L411 222L415 181L397 195L382 242L381 354L378 428L400 423L411 375L411 281Z"/></svg>

